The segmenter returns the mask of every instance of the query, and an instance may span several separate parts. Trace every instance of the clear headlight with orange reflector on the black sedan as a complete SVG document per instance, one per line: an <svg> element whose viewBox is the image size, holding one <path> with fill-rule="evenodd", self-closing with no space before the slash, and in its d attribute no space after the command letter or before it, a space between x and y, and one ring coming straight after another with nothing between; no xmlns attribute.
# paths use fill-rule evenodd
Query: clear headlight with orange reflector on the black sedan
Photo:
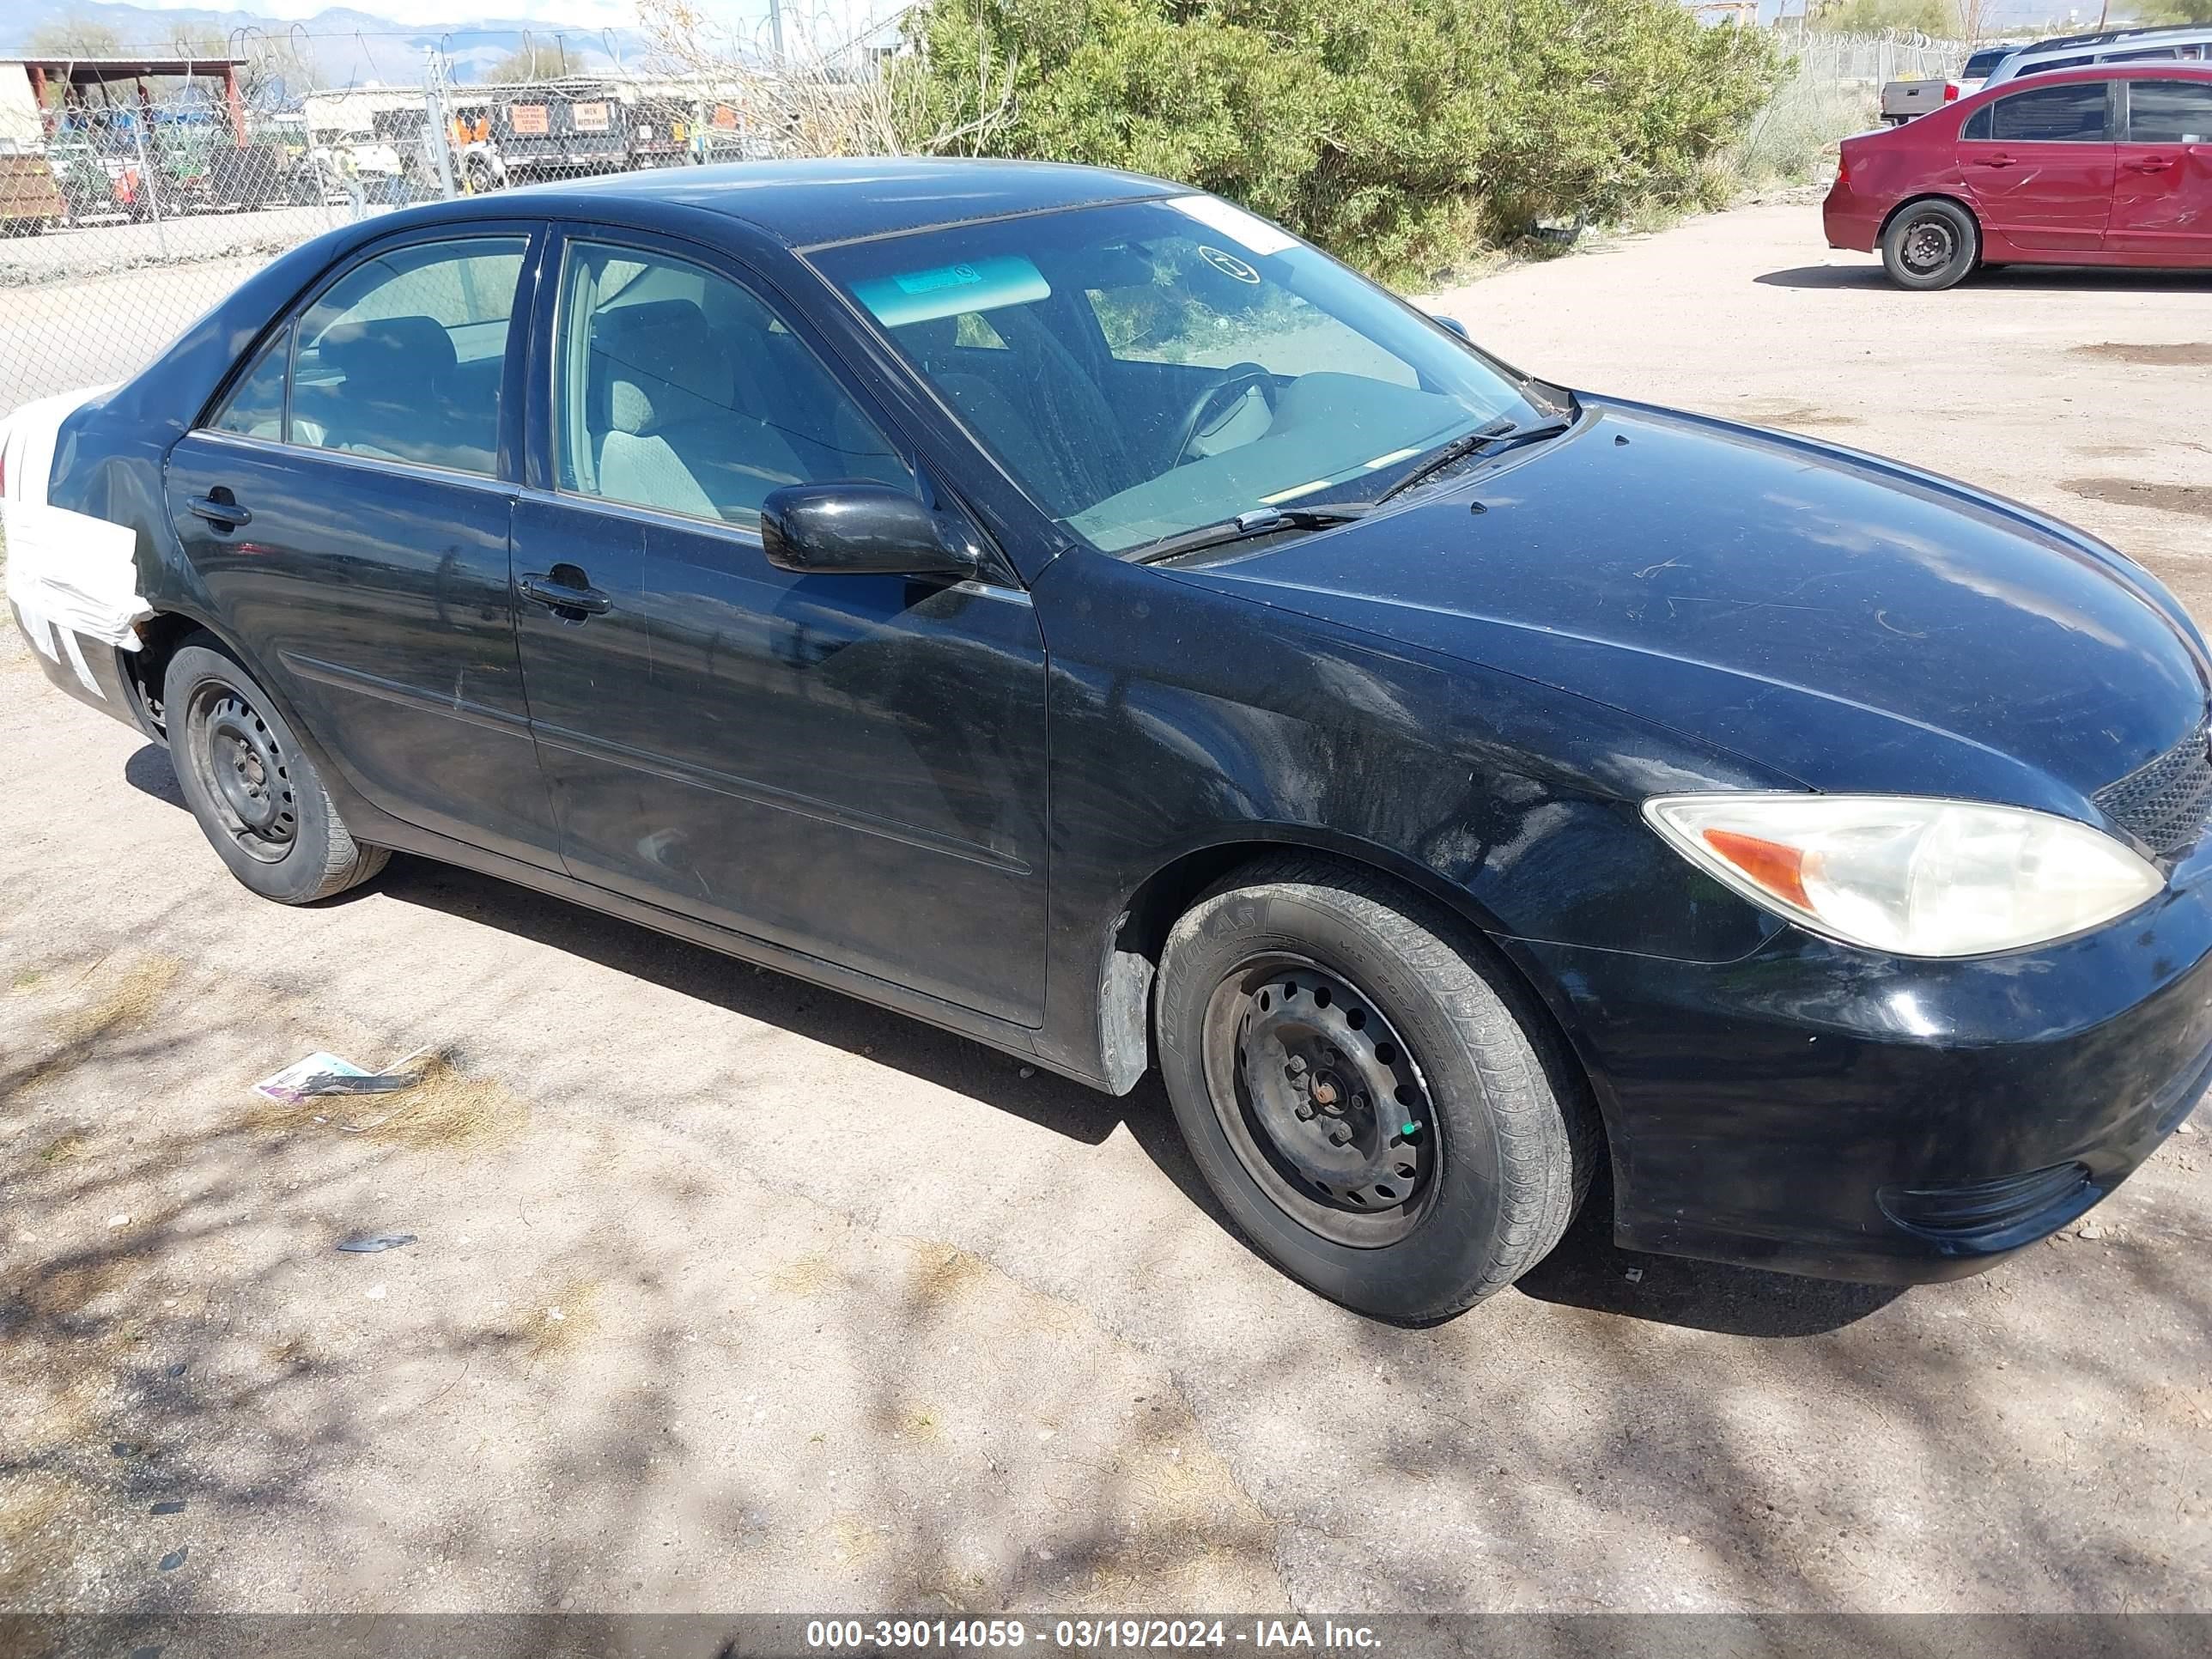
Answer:
<svg viewBox="0 0 2212 1659"><path fill-rule="evenodd" d="M2073 818L1911 794L1663 794L1644 816L1745 898L1891 956L1982 956L2079 933L2166 878Z"/></svg>

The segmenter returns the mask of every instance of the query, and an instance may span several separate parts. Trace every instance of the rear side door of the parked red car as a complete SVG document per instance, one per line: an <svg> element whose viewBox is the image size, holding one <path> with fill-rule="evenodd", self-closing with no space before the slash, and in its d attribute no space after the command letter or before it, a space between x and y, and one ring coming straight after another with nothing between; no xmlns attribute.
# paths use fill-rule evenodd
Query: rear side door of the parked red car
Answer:
<svg viewBox="0 0 2212 1659"><path fill-rule="evenodd" d="M1982 228L2015 248L2095 252L2112 206L2112 84L2026 86L1966 117L1958 164Z"/></svg>

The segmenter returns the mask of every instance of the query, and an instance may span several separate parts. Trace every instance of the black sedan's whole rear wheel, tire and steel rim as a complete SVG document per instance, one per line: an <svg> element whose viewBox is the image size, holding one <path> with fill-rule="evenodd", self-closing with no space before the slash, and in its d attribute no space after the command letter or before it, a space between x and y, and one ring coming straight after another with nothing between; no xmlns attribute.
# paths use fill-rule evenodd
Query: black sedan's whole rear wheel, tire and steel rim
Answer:
<svg viewBox="0 0 2212 1659"><path fill-rule="evenodd" d="M230 874L279 905L358 887L392 854L354 841L314 761L212 635L168 661L161 710L177 785Z"/></svg>

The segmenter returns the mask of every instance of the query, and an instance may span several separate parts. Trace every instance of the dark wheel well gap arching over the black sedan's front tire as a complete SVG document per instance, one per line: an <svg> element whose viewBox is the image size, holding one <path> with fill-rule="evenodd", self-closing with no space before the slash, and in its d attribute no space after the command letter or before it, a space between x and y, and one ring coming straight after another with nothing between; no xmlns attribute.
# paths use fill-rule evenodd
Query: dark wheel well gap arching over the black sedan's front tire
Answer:
<svg viewBox="0 0 2212 1659"><path fill-rule="evenodd" d="M1502 978L1502 991L1506 993L1509 1004L1526 1022L1542 1026L1540 1031L1531 1031L1531 1040L1559 1071L1571 1073L1559 1077L1559 1086L1582 1088L1593 1102L1597 1102L1599 1110L1595 1117L1601 1139L1601 1146L1597 1148L1597 1164L1604 1168L1610 1161L1613 1137L1604 1124L1604 1097L1590 1082L1590 1071L1584 1066L1573 1035L1520 964L1493 947L1473 918L1460 914L1433 891L1422 889L1420 883L1407 880L1400 872L1387 869L1385 865L1334 849L1281 841L1241 841L1221 847L1201 847L1199 852L1183 854L1175 863L1155 869L1137 887L1137 891L1130 894L1128 907L1119 918L1115 918L1115 927L1106 945L1106 975L1099 991L1099 1033L1104 1040L1104 1060L1110 1073L1108 1082L1117 1093L1135 1088L1137 1079L1150 1064L1150 991L1152 980L1157 978L1161 949L1166 947L1175 922L1197 902L1199 894L1228 880L1239 869L1256 865L1265 858L1281 858L1283 854L1294 854L1307 863L1332 863L1347 872L1380 878L1405 894L1405 898L1420 909L1444 909L1460 925L1460 931L1471 936L1471 942L1480 949L1484 964Z"/></svg>

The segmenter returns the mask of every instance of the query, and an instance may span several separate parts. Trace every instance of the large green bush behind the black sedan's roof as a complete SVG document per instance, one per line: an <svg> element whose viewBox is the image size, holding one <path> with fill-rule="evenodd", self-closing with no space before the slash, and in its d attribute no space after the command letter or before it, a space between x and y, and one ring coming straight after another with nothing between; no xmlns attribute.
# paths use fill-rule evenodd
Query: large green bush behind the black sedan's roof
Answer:
<svg viewBox="0 0 2212 1659"><path fill-rule="evenodd" d="M1677 0L933 0L907 31L916 148L1179 179L1398 281L1708 204L1783 71Z"/></svg>

